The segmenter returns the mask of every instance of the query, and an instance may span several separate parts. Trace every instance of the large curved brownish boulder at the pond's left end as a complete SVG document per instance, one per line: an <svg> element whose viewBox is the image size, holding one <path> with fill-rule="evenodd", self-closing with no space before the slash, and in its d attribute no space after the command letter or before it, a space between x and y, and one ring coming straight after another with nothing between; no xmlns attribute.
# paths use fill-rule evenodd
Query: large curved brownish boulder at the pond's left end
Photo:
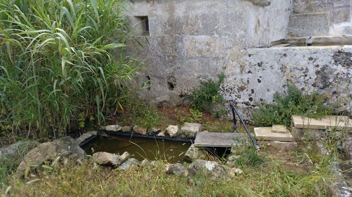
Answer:
<svg viewBox="0 0 352 197"><path fill-rule="evenodd" d="M62 137L52 142L41 143L30 150L20 163L16 173L23 175L28 166L40 165L47 160L56 159L58 156L82 163L85 155L84 150L72 137Z"/></svg>

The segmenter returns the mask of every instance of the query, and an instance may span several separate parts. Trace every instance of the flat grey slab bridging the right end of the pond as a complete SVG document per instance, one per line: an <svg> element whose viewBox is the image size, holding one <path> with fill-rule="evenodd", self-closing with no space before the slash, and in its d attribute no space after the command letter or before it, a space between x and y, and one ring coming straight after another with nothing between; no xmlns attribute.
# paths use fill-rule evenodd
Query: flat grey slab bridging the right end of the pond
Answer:
<svg viewBox="0 0 352 197"><path fill-rule="evenodd" d="M231 147L235 142L247 139L246 133L206 133L199 132L194 145L201 147Z"/></svg>

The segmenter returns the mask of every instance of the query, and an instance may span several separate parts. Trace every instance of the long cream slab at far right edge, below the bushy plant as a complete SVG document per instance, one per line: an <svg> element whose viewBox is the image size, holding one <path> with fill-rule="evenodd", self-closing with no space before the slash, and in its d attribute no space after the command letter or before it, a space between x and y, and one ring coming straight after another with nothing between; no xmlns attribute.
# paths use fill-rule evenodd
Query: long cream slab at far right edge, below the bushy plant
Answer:
<svg viewBox="0 0 352 197"><path fill-rule="evenodd" d="M352 129L352 120L348 116L325 116L321 120L292 116L292 121L296 128L327 129L336 127L338 130L343 128Z"/></svg>

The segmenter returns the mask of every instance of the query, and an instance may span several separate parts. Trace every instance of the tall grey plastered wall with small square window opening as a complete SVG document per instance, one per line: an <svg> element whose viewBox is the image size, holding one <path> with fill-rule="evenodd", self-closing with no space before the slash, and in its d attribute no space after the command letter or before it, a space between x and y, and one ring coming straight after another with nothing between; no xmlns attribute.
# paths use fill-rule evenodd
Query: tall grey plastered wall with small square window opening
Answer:
<svg viewBox="0 0 352 197"><path fill-rule="evenodd" d="M266 2L269 2L265 0ZM256 47L285 38L290 1L270 6L247 0L134 0L126 14L131 26L148 16L148 43L136 51L148 70L138 79L152 80L140 92L154 104L174 105L197 87L199 81L216 79L233 56L233 49Z"/></svg>

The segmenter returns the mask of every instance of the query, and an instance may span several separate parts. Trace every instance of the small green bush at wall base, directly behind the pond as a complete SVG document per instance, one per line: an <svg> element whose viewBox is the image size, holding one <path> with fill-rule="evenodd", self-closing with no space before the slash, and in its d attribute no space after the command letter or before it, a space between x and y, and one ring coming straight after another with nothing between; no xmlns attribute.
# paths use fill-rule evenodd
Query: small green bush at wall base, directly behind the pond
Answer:
<svg viewBox="0 0 352 197"><path fill-rule="evenodd" d="M200 86L193 90L193 101L192 104L199 109L203 109L205 103L220 103L224 99L219 94L220 84L224 80L224 74L218 75L219 80L217 82L206 79L200 82Z"/></svg>

